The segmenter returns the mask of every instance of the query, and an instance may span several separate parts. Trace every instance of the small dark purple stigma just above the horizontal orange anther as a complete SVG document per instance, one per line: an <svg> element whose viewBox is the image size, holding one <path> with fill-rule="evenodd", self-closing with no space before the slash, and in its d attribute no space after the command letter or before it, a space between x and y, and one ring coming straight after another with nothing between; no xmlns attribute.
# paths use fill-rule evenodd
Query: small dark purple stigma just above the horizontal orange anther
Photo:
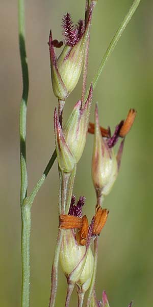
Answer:
<svg viewBox="0 0 153 307"><path fill-rule="evenodd" d="M75 196L72 195L68 214L73 215L73 216L82 217L82 206L84 206L85 204L85 197L81 196L79 201L77 202L77 205L74 205L74 204L75 204Z"/></svg>

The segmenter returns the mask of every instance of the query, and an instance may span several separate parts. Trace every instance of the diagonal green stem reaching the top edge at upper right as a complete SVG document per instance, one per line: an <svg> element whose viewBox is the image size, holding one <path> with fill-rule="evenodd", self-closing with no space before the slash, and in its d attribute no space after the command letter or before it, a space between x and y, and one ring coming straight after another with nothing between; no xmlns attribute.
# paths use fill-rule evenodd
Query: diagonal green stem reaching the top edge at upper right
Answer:
<svg viewBox="0 0 153 307"><path fill-rule="evenodd" d="M132 18L133 14L135 13L137 7L139 6L141 0L134 0L129 12L127 13L127 15L125 16L125 18L123 19L121 25L119 26L118 30L116 31L108 49L106 50L103 59L100 62L99 68L94 76L94 78L92 79L93 82L93 90L95 89L98 79L101 75L101 72L103 71L105 64L107 62L107 60L109 59L110 55L112 54L112 52L114 51L114 48L117 45L117 42L119 40L119 38L121 37L123 31L125 30L127 24L129 23L130 19ZM87 97L88 97L88 93L89 93L89 89L86 92L85 95L85 99L84 101L86 101Z"/></svg>

